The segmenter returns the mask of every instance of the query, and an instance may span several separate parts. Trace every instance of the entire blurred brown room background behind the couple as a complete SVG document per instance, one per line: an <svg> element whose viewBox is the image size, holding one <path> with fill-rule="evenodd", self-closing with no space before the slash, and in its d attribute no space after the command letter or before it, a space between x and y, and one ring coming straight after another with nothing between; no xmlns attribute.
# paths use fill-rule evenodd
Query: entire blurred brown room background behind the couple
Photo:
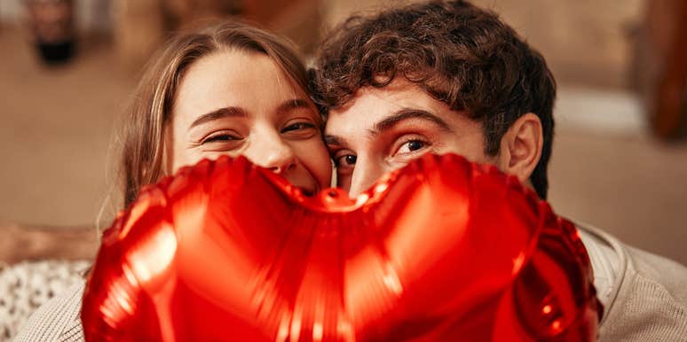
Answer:
<svg viewBox="0 0 687 342"><path fill-rule="evenodd" d="M557 77L557 213L687 263L687 2L476 3L501 13ZM171 31L238 15L309 56L351 12L391 4L399 2L0 0L0 260L95 253L94 227L114 214L116 122Z"/></svg>

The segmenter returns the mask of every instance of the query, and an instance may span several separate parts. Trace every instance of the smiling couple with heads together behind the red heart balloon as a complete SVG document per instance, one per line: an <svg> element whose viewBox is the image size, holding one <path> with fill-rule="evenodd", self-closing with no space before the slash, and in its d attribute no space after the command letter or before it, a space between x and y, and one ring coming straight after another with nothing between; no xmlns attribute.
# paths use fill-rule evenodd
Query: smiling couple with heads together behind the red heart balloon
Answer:
<svg viewBox="0 0 687 342"><path fill-rule="evenodd" d="M179 35L147 68L122 136L123 198L224 154L305 193L330 185L334 160L355 196L427 152L494 164L546 198L555 96L541 55L462 1L348 19L311 73L279 37L227 22ZM604 304L599 340L687 340L687 268L578 230ZM17 340L83 339L82 292L52 299Z"/></svg>

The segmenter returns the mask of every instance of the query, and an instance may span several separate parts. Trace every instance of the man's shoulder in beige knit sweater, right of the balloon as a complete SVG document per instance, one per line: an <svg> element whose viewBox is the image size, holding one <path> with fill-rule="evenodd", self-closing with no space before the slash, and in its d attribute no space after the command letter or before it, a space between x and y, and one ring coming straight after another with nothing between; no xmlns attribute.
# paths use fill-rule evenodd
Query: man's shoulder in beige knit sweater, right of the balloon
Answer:
<svg viewBox="0 0 687 342"><path fill-rule="evenodd" d="M612 264L614 268L599 340L687 341L687 268L625 245L600 229L578 228L593 236L585 241L593 267ZM606 246L604 253L596 253L598 245Z"/></svg>

